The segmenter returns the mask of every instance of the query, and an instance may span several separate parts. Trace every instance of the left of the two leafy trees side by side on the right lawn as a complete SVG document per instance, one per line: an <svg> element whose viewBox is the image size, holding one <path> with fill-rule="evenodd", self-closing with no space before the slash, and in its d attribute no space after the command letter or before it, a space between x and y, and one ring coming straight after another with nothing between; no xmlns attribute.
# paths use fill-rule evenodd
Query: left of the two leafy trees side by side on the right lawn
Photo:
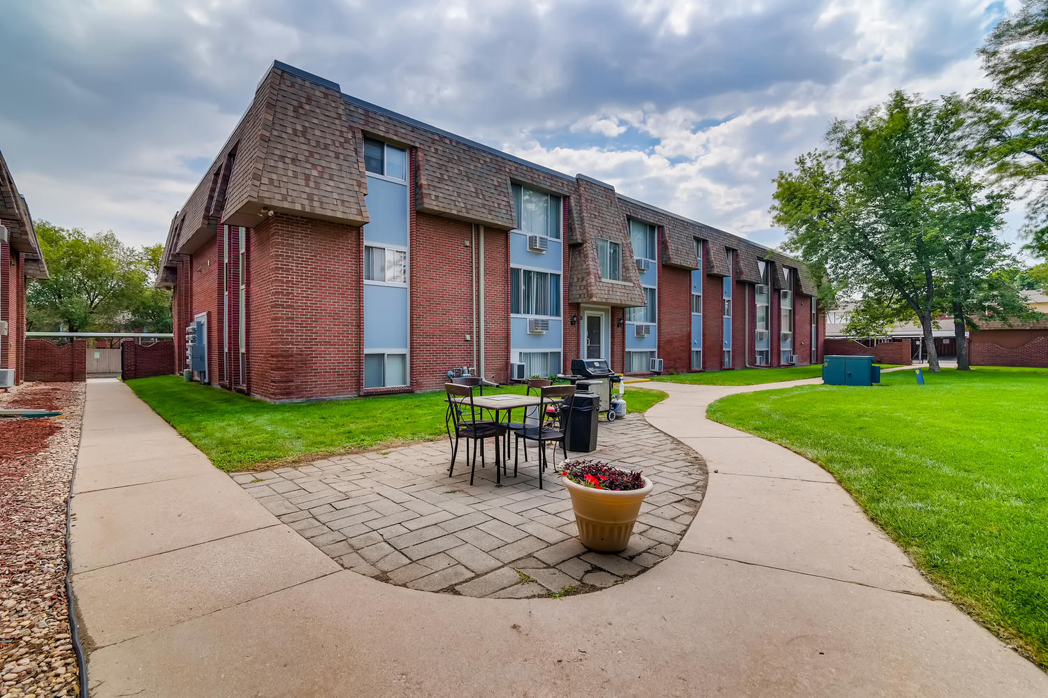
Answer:
<svg viewBox="0 0 1048 698"><path fill-rule="evenodd" d="M893 92L854 122L835 120L824 149L799 157L794 172L780 172L771 206L787 249L854 296L905 303L921 324L933 371L942 261L936 149L953 126L936 105Z"/></svg>

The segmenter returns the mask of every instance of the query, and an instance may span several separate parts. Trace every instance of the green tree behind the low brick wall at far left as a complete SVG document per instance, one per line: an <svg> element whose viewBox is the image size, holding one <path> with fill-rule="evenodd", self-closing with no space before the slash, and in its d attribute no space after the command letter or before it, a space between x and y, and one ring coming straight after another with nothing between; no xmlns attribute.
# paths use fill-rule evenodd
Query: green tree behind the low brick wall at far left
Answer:
<svg viewBox="0 0 1048 698"><path fill-rule="evenodd" d="M171 332L171 294L153 288L162 248L132 247L112 231L35 225L50 278L26 289L35 331Z"/></svg>

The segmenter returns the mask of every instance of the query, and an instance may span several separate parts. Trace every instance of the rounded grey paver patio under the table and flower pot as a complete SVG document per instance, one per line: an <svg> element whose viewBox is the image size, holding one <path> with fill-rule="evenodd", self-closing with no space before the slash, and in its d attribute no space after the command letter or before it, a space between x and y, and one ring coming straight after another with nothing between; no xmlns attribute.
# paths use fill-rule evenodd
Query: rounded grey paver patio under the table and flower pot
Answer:
<svg viewBox="0 0 1048 698"><path fill-rule="evenodd" d="M436 403L439 407L439 403ZM671 555L705 492L705 464L639 414L602 422L598 448L572 457L641 470L655 491L630 546L591 553L578 542L567 490L552 472L539 489L536 447L496 486L493 446L474 487L462 448L447 476L447 442L325 458L233 478L343 567L424 591L525 599L594 591ZM560 463L552 455L550 464Z"/></svg>

